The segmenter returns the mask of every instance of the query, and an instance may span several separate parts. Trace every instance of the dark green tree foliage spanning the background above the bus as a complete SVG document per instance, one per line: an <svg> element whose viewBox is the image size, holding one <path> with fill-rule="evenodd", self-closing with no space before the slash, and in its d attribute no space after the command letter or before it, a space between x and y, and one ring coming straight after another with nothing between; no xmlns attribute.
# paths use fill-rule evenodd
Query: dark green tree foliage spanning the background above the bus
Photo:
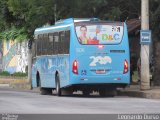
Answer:
<svg viewBox="0 0 160 120"><path fill-rule="evenodd" d="M141 12L140 0L1 0L0 4L1 39L19 41L30 39L37 27L54 24L55 13L57 20L98 17L125 21L138 18ZM151 27L156 31L159 13L160 1L150 0Z"/></svg>

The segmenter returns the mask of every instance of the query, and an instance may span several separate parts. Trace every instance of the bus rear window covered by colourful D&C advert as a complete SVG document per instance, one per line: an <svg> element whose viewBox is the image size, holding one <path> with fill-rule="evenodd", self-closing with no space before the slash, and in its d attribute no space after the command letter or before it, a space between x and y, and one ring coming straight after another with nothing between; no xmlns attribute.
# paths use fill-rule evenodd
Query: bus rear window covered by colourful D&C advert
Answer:
<svg viewBox="0 0 160 120"><path fill-rule="evenodd" d="M81 44L118 44L123 37L122 25L78 24L76 34Z"/></svg>

